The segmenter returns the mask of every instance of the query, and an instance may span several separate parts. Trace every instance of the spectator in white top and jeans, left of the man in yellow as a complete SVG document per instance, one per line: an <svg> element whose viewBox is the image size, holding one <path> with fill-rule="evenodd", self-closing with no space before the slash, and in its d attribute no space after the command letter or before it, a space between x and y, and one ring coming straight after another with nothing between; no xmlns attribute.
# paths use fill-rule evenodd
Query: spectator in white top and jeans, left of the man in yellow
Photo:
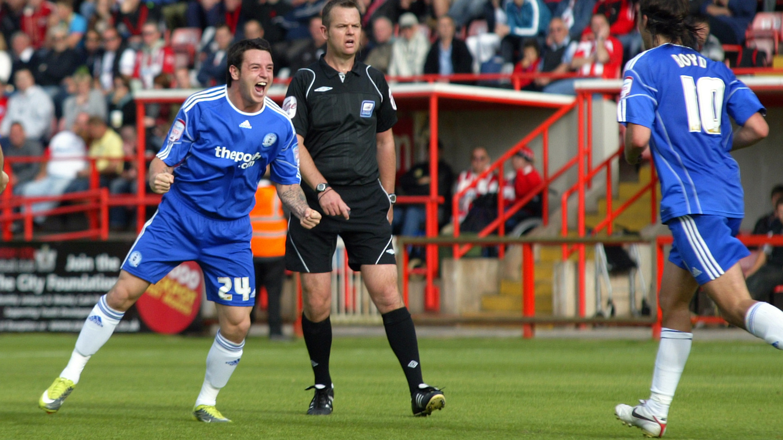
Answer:
<svg viewBox="0 0 783 440"><path fill-rule="evenodd" d="M41 173L32 181L19 189L24 197L60 196L68 184L76 179L79 171L87 168L87 147L85 140L78 133L85 133L89 115L78 114L73 127L57 133L49 142L49 161L41 167ZM57 201L33 204L32 212L48 211L59 204ZM45 220L37 216L35 222L39 225Z"/></svg>

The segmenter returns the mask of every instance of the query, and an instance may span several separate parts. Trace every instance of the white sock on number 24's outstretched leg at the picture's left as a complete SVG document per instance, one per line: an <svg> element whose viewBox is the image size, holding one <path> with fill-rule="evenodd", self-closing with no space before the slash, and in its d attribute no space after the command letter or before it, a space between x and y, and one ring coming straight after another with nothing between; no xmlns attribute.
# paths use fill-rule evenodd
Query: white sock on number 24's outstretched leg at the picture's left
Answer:
<svg viewBox="0 0 783 440"><path fill-rule="evenodd" d="M81 327L81 332L76 340L76 348L70 354L70 361L68 361L65 370L60 373L60 377L73 380L74 384L78 383L81 370L85 369L90 357L96 354L99 348L106 344L106 341L109 341L124 314L125 312L110 308L106 304L106 295L103 295L98 300L98 304L92 308L92 312L85 320L85 325Z"/></svg>

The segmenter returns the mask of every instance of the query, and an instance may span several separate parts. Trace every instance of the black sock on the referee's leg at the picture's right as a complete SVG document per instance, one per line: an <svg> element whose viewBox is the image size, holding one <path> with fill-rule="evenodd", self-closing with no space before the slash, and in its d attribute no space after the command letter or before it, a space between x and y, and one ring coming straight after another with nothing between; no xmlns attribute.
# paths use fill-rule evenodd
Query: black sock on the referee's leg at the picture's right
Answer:
<svg viewBox="0 0 783 440"><path fill-rule="evenodd" d="M419 343L416 340L416 328L410 312L405 307L392 310L381 315L384 319L386 337L391 345L391 351L397 355L402 371L408 380L410 394L419 389L419 384L424 383L421 378L421 364L419 362Z"/></svg>

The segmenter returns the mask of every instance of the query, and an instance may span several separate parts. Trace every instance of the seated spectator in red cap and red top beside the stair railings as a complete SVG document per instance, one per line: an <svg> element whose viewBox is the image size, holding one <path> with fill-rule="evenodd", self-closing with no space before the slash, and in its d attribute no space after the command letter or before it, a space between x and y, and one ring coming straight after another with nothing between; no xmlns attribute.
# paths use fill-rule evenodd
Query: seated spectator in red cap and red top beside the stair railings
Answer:
<svg viewBox="0 0 783 440"><path fill-rule="evenodd" d="M535 156L532 150L523 146L511 157L511 165L514 171L507 175L507 186L503 188L503 198L509 201L509 206L527 197L537 186L543 182L541 175L533 166ZM511 229L522 220L532 217L541 217L541 195L537 194L525 206L521 207L506 223Z"/></svg>

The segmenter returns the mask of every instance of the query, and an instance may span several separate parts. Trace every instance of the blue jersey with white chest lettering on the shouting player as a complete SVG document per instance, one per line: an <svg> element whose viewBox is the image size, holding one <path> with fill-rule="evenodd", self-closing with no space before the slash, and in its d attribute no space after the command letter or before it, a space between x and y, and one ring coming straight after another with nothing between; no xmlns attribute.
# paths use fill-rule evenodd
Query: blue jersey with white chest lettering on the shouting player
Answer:
<svg viewBox="0 0 783 440"><path fill-rule="evenodd" d="M288 115L269 98L257 113L240 111L225 85L186 99L157 157L176 167L164 197L176 197L211 217L249 215L267 164L273 182L301 182L297 137Z"/></svg>

